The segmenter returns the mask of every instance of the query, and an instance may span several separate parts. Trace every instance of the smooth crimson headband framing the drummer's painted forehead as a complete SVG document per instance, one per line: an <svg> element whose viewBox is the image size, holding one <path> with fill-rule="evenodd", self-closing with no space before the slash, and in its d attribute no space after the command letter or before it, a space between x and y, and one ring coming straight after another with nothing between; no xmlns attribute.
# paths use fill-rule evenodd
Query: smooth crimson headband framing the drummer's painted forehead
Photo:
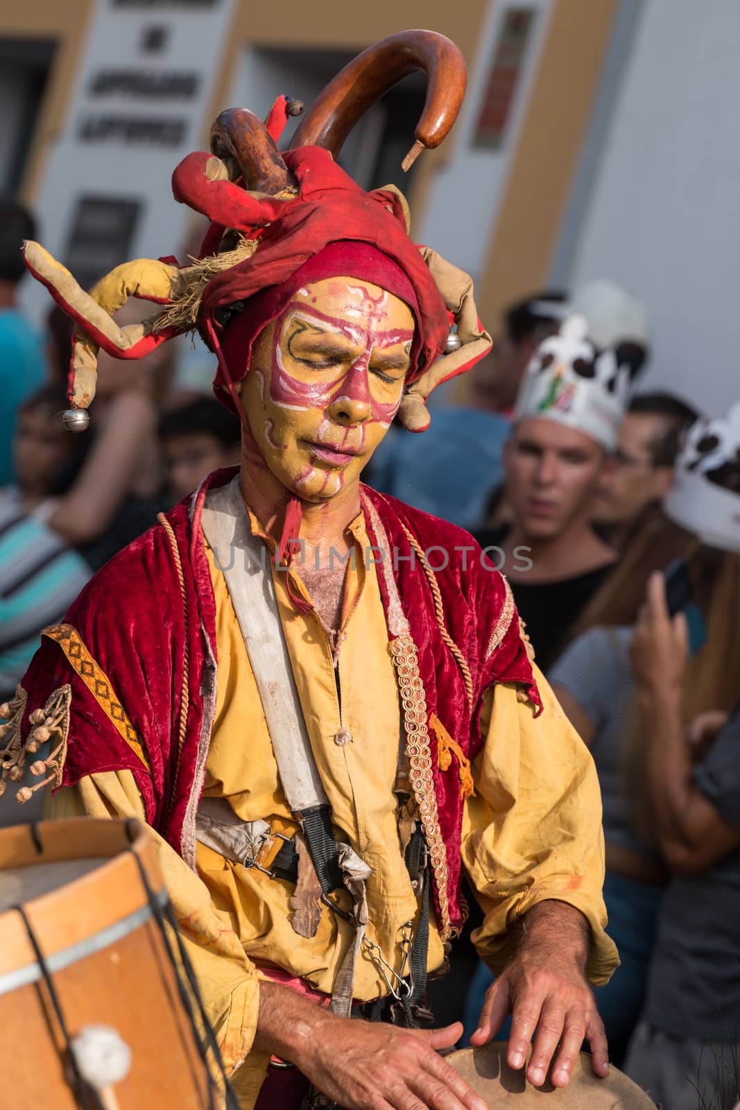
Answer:
<svg viewBox="0 0 740 1110"><path fill-rule="evenodd" d="M220 341L221 357L213 383L213 392L219 401L229 408L235 407L229 377L232 383L240 382L244 377L250 369L254 341L268 324L282 315L297 290L302 285L322 281L324 278L341 276L361 278L373 282L374 285L405 301L412 310L416 327L407 381L414 380L420 345L419 311L414 286L401 266L376 246L369 243L343 241L330 243L304 262L282 284L255 293L245 302L243 311L229 323Z"/></svg>

